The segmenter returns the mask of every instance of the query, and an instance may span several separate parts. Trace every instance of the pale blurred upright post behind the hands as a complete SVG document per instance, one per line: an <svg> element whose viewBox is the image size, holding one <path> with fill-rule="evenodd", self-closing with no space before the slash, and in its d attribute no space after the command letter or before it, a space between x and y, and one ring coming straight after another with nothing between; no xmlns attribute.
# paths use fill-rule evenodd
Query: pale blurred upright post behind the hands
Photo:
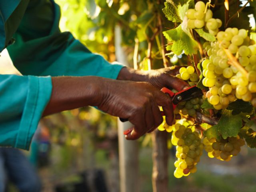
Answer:
<svg viewBox="0 0 256 192"><path fill-rule="evenodd" d="M115 28L116 60L128 66L126 54L122 50L122 33L120 26ZM123 134L131 128L130 122L122 123L118 119L120 192L138 192L138 142L128 141Z"/></svg>

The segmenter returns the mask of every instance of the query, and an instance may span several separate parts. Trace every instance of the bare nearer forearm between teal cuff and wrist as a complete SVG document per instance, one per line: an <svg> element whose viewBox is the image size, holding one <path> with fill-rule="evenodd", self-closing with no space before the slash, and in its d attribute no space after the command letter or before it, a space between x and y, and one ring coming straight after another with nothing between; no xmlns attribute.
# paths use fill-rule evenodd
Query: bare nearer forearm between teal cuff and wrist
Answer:
<svg viewBox="0 0 256 192"><path fill-rule="evenodd" d="M71 110L83 106L97 106L100 86L104 86L104 78L85 77L52 77L52 95L43 116Z"/></svg>

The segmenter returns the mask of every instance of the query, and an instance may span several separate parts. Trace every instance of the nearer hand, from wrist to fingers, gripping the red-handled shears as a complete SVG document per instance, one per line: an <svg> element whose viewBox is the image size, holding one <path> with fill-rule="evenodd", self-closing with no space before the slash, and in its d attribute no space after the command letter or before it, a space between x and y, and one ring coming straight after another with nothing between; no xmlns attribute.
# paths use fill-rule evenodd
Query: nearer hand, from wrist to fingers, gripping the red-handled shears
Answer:
<svg viewBox="0 0 256 192"><path fill-rule="evenodd" d="M128 119L134 125L134 130L126 135L126 139L138 139L162 123L158 106L162 106L166 122L172 124L172 100L152 84L110 79L101 83L97 106L108 114Z"/></svg>

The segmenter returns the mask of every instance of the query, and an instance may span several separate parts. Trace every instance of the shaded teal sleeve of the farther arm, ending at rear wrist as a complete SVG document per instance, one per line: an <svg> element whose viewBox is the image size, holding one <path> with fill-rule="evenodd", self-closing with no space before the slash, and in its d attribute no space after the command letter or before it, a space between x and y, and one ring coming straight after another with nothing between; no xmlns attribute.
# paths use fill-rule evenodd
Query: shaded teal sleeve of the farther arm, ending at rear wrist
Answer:
<svg viewBox="0 0 256 192"><path fill-rule="evenodd" d="M60 32L60 8L54 1L31 2L14 34L15 43L7 48L22 74L117 78L122 65L90 52L70 32Z"/></svg>

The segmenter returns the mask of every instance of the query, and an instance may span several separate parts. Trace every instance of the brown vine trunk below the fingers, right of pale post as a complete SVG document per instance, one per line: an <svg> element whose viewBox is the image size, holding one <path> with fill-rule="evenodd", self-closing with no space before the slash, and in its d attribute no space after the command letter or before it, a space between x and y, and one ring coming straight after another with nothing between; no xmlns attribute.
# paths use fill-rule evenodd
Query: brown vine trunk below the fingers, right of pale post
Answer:
<svg viewBox="0 0 256 192"><path fill-rule="evenodd" d="M152 132L152 158L153 172L152 185L153 192L168 191L168 148L167 132L155 130Z"/></svg>

